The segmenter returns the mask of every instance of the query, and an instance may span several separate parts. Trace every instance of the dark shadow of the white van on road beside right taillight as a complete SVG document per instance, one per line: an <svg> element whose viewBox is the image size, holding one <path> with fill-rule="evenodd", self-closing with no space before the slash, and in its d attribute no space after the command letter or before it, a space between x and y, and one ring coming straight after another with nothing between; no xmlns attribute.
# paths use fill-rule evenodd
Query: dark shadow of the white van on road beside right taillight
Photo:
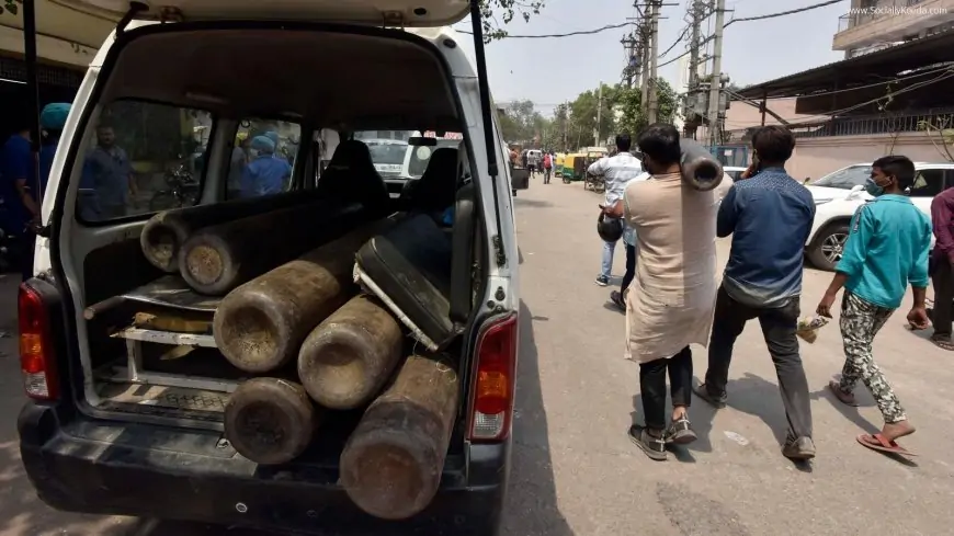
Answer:
<svg viewBox="0 0 954 536"><path fill-rule="evenodd" d="M557 505L532 318L526 304L521 301L516 418L513 423L510 490L502 534L573 536L573 531Z"/></svg>

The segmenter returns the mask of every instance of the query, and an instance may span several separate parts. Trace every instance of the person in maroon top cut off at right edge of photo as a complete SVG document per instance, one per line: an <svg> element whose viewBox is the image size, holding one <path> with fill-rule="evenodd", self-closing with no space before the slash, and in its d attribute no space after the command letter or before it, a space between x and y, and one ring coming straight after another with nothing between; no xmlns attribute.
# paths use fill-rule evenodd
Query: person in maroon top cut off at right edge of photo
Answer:
<svg viewBox="0 0 954 536"><path fill-rule="evenodd" d="M951 311L954 305L954 189L947 189L931 202L931 221L934 227L934 250L931 255L931 281L934 283L934 333L931 342L952 351Z"/></svg>

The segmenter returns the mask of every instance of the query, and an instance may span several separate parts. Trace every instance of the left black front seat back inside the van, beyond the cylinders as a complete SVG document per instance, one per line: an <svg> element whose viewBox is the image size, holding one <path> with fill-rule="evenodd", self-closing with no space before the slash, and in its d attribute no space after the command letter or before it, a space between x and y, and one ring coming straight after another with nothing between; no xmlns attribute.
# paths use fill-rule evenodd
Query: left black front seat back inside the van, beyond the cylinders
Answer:
<svg viewBox="0 0 954 536"><path fill-rule="evenodd" d="M322 197L360 202L368 207L390 203L387 184L374 169L371 151L364 142L355 139L338 146L316 190Z"/></svg>

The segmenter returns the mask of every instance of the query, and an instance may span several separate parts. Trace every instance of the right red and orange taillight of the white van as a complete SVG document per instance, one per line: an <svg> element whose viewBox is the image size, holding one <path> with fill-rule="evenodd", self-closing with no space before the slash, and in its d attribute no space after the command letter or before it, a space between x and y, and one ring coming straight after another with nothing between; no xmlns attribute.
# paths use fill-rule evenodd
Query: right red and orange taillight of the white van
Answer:
<svg viewBox="0 0 954 536"><path fill-rule="evenodd" d="M492 322L477 341L468 438L500 441L510 433L516 376L516 313Z"/></svg>

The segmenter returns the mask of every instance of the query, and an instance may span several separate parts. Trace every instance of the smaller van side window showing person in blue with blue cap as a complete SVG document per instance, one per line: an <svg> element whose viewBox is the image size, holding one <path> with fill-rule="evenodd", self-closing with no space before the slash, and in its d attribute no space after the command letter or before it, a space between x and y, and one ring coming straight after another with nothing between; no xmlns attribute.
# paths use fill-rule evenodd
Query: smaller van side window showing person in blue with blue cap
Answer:
<svg viewBox="0 0 954 536"><path fill-rule="evenodd" d="M226 198L287 192L302 140L302 126L286 121L245 118L236 130Z"/></svg>

